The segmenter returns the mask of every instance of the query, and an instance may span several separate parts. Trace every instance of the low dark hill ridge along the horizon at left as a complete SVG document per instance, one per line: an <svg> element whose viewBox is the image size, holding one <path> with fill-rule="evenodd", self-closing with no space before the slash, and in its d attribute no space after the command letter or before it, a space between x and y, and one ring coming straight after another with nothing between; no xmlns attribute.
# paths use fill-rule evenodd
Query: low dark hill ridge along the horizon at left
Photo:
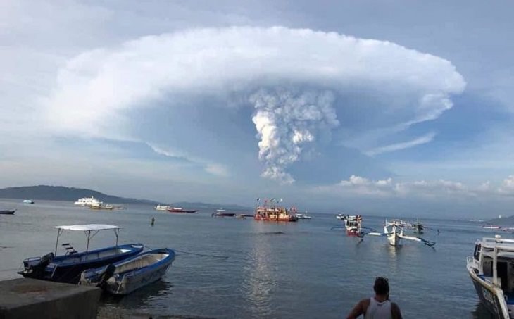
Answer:
<svg viewBox="0 0 514 319"><path fill-rule="evenodd" d="M152 201L149 199L132 199L120 196L113 196L104 194L92 189L75 188L75 187L64 187L64 186L49 186L49 185L37 185L37 186L22 186L22 187L7 187L0 189L0 198L2 199L42 199L49 201L76 201L82 197L94 196L104 203L111 204L165 204L163 202ZM184 208L203 208L203 209L234 209L234 210L251 210L252 208L229 204L208 204L201 202L187 202L182 201L178 203L170 204L170 206L184 207Z"/></svg>

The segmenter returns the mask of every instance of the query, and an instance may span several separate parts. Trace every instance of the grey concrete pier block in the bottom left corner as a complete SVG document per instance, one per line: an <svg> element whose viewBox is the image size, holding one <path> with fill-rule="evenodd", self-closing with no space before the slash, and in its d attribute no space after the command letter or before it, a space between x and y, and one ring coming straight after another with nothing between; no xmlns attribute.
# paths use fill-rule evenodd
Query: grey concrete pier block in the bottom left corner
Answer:
<svg viewBox="0 0 514 319"><path fill-rule="evenodd" d="M0 319L96 318L101 289L28 278L0 282Z"/></svg>

